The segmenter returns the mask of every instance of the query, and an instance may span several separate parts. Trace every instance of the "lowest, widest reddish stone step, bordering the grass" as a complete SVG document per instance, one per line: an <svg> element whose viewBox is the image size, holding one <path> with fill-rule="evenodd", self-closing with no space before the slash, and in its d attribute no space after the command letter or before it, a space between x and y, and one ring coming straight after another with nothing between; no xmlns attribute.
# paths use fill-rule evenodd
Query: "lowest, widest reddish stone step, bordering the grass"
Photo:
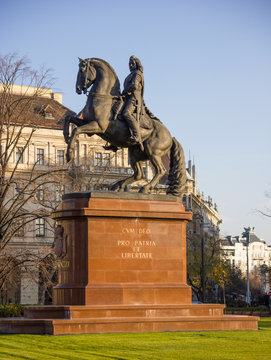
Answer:
<svg viewBox="0 0 271 360"><path fill-rule="evenodd" d="M257 330L253 316L174 316L88 319L1 319L0 333L9 334L89 334L118 332Z"/></svg>

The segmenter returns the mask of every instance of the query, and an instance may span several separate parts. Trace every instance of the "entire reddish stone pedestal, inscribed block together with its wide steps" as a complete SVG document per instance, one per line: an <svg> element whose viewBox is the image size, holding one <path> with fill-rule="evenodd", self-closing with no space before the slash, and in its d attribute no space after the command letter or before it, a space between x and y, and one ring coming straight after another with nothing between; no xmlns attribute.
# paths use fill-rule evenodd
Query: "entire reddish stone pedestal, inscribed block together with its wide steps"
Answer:
<svg viewBox="0 0 271 360"><path fill-rule="evenodd" d="M0 332L81 334L256 330L257 317L224 316L224 305L191 304L186 212L180 199L133 193L64 196L53 306L0 320Z"/></svg>

